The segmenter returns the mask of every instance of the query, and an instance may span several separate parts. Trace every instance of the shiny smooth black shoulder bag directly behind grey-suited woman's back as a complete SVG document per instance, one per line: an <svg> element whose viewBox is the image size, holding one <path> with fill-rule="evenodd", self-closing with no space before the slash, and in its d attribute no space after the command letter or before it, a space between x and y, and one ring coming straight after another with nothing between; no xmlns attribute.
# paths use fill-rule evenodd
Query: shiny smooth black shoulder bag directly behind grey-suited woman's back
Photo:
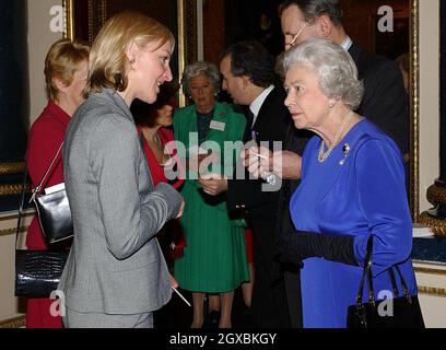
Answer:
<svg viewBox="0 0 446 350"><path fill-rule="evenodd" d="M33 196L31 197L31 201L35 203L42 232L48 245L73 236L70 203L64 188L47 195L40 194L43 184L55 164L62 145L63 142L60 144L40 183L33 189Z"/></svg>

